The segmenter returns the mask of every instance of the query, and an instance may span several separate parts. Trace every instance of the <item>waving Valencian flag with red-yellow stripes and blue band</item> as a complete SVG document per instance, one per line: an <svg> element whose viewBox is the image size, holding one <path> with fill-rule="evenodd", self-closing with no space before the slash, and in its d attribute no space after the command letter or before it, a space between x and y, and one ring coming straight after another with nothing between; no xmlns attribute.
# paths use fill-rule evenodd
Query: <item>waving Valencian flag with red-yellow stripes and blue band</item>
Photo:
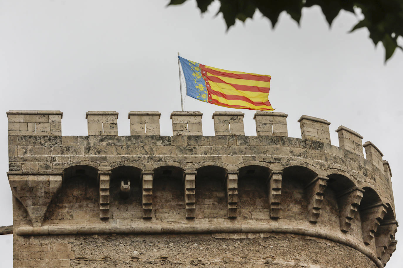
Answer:
<svg viewBox="0 0 403 268"><path fill-rule="evenodd" d="M229 108L274 110L268 100L271 76L222 70L183 57L179 61L187 96Z"/></svg>

